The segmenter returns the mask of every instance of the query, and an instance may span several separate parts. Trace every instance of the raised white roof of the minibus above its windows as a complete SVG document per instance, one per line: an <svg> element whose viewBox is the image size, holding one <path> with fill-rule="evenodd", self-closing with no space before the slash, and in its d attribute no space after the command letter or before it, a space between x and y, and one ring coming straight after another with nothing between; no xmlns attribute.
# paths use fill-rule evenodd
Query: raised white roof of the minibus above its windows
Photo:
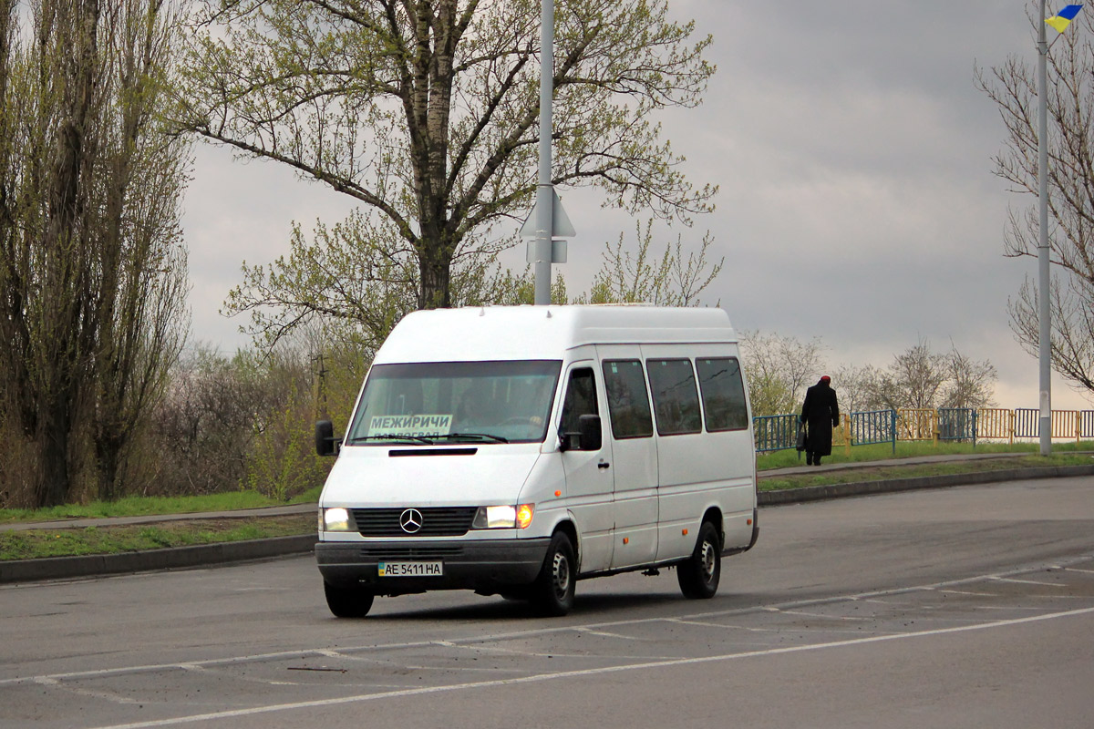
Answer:
<svg viewBox="0 0 1094 729"><path fill-rule="evenodd" d="M583 344L736 342L720 308L603 304L414 311L375 362L557 360Z"/></svg>

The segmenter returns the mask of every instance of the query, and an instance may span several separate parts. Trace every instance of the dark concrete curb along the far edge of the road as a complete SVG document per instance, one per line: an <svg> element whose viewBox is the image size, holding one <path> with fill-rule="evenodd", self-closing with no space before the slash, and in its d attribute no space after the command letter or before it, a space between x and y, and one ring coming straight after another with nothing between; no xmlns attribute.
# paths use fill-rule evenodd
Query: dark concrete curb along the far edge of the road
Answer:
<svg viewBox="0 0 1094 729"><path fill-rule="evenodd" d="M823 486L800 486L781 491L761 491L760 506L803 504L828 498L892 494L917 489L971 486L1005 481L1024 481L1062 477L1094 475L1092 466L1049 466L1034 468L953 473L947 475L859 481ZM268 560L293 554L306 554L315 549L315 534L275 537L241 542L219 542L124 554L92 554L86 556L47 557L44 560L16 560L0 562L0 584L30 583L48 579L72 579L106 575L183 569L188 567Z"/></svg>

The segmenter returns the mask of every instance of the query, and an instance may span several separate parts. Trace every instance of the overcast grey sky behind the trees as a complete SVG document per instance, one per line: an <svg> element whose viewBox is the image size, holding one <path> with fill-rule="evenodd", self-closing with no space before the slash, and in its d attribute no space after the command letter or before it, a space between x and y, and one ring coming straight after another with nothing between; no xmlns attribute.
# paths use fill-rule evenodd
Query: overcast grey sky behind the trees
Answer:
<svg viewBox="0 0 1094 729"><path fill-rule="evenodd" d="M921 338L936 351L952 341L996 366L1001 407L1036 408L1037 361L1006 315L1036 261L1002 255L1008 205L1034 201L991 174L1005 130L974 84L975 64L1035 62L1025 4L670 4L713 35L718 66L701 107L662 117L693 183L721 187L714 213L660 238L680 232L688 247L713 234L725 267L705 302L721 302L737 329L819 337L829 368L884 367ZM196 154L184 219L193 338L232 352L247 344L243 322L218 311L242 261L274 260L291 221L333 223L353 201L271 163L205 144ZM585 192L558 191L578 236L557 268L583 291L604 243L619 232L633 242L633 224ZM1052 404L1091 407L1060 379Z"/></svg>

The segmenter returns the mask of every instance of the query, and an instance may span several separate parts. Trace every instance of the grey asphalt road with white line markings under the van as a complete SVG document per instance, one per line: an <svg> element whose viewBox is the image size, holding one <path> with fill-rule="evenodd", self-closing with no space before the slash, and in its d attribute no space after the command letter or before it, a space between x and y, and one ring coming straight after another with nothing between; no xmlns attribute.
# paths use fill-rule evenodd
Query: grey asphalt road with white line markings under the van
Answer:
<svg viewBox="0 0 1094 729"><path fill-rule="evenodd" d="M0 587L2 727L1084 727L1094 480L760 512L709 601L582 581L339 621L310 557Z"/></svg>

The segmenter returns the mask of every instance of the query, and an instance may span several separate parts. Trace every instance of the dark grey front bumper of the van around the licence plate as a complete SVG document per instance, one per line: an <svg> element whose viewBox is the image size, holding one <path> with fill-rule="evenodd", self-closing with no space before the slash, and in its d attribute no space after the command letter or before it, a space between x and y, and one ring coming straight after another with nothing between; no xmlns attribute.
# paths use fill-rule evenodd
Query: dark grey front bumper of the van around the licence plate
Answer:
<svg viewBox="0 0 1094 729"><path fill-rule="evenodd" d="M462 542L317 542L315 560L323 579L336 587L365 587L376 595L472 589L504 592L535 580L550 539ZM380 577L381 562L437 562L440 577Z"/></svg>

